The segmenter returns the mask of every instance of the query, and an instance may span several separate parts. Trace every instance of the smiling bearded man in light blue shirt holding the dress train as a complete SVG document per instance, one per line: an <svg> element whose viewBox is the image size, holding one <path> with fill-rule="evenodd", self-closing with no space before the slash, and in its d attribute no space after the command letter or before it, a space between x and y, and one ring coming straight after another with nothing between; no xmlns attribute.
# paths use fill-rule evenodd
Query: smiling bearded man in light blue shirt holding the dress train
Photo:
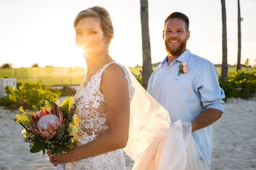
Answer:
<svg viewBox="0 0 256 170"><path fill-rule="evenodd" d="M163 40L168 55L151 75L147 91L169 112L171 122L191 122L193 139L210 167L211 125L224 112L225 95L215 66L186 49L188 28L183 13L166 18Z"/></svg>

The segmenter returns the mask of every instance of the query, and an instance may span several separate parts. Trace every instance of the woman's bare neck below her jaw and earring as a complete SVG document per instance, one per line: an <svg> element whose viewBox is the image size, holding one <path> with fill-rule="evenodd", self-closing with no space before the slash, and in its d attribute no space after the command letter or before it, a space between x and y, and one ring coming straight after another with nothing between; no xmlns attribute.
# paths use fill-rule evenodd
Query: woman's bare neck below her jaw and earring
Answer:
<svg viewBox="0 0 256 170"><path fill-rule="evenodd" d="M104 65L106 65L109 62L114 62L114 60L110 57L110 55L107 53L105 57L98 59L98 58L85 58L86 65L87 65L87 72L90 72L91 70L99 70Z"/></svg>

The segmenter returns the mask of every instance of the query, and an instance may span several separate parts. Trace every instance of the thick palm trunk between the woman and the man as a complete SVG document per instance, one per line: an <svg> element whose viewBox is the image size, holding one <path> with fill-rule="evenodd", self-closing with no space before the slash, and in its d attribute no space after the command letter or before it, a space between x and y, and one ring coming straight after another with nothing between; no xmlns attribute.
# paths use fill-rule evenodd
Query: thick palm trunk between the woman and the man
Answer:
<svg viewBox="0 0 256 170"><path fill-rule="evenodd" d="M148 0L140 0L141 5L141 35L142 35L142 86L147 89L152 74L151 48L149 38L149 5Z"/></svg>

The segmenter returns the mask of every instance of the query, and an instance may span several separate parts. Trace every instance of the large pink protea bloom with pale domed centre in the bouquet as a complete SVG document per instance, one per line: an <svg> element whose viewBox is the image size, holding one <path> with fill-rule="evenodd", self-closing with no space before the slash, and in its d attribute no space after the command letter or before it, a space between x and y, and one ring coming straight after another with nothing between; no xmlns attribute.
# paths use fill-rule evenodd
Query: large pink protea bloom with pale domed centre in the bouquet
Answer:
<svg viewBox="0 0 256 170"><path fill-rule="evenodd" d="M34 115L30 115L32 123L29 123L29 126L34 134L46 139L51 139L57 135L57 131L65 119L63 120L63 114L59 108L56 112L52 106L52 111L54 114L51 113L50 109L45 108L45 111L40 110L37 113L33 112Z"/></svg>

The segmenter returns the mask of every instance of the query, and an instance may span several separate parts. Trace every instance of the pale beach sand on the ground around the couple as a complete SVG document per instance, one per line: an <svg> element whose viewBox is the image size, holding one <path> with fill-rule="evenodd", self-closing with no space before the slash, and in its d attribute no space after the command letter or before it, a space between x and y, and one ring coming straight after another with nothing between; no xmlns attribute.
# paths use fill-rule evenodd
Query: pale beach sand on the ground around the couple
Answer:
<svg viewBox="0 0 256 170"><path fill-rule="evenodd" d="M60 101L63 98L60 98ZM212 125L212 161L215 170L256 169L256 100L231 98L225 103L225 113ZM48 156L30 153L22 139L22 126L11 119L17 110L0 107L0 170L54 170ZM133 161L124 153L127 169ZM70 170L70 164L66 164Z"/></svg>

